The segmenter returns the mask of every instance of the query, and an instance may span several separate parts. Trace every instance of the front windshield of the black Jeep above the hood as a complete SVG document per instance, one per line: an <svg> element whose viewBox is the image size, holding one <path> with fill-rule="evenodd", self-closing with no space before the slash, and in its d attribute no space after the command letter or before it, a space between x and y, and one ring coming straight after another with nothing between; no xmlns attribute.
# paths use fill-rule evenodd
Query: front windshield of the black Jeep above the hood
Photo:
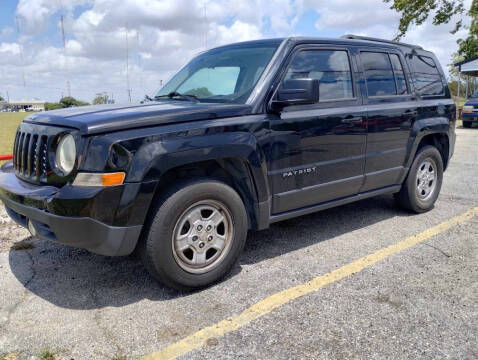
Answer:
<svg viewBox="0 0 478 360"><path fill-rule="evenodd" d="M201 102L244 104L278 44L218 48L195 57L156 94L194 95Z"/></svg>

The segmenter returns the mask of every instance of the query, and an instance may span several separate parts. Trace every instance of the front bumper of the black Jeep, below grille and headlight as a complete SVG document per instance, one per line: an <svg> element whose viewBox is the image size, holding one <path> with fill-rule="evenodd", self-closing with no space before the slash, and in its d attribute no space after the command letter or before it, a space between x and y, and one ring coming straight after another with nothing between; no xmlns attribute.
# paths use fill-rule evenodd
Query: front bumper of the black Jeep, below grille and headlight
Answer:
<svg viewBox="0 0 478 360"><path fill-rule="evenodd" d="M115 191L37 186L18 179L8 164L0 170L0 200L7 213L22 226L31 221L38 237L101 255L128 255L136 247L142 225L114 226L93 218L99 204L104 213L117 213L111 207L121 203L124 189L110 190ZM105 196L110 206L102 200Z"/></svg>

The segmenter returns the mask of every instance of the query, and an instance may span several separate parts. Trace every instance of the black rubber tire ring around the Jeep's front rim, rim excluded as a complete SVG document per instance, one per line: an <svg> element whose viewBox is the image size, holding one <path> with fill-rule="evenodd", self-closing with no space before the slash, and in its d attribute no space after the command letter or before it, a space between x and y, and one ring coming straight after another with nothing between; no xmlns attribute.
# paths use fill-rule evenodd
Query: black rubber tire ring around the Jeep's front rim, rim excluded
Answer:
<svg viewBox="0 0 478 360"><path fill-rule="evenodd" d="M232 217L234 235L229 252L220 264L203 274L185 271L173 255L172 237L176 222L191 205L211 199L224 204ZM236 263L247 236L247 215L240 196L219 181L198 180L182 186L157 210L146 238L144 256L148 270L168 286L188 290L205 287L221 279Z"/></svg>

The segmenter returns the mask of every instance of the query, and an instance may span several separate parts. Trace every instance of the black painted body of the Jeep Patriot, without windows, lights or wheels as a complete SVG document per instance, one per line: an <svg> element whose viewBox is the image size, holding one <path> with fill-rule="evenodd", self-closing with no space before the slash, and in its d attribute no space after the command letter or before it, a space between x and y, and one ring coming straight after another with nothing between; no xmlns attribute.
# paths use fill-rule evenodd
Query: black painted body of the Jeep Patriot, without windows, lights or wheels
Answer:
<svg viewBox="0 0 478 360"><path fill-rule="evenodd" d="M5 165L0 172L0 198L17 221L31 218L46 223L51 228L46 238L107 255L126 255L136 245L155 196L184 177L220 177L241 195L250 228L264 229L275 221L397 192L421 141L436 143L448 163L455 143L455 105L444 74L440 69L444 94L423 97L415 91L405 61L410 52L418 52L438 64L433 54L359 40L262 42L280 47L244 105L161 100L27 117L20 132L39 131L53 139L48 157L51 170L43 178L33 178L12 164ZM271 110L287 65L304 48L347 51L354 97ZM367 97L359 56L366 50L400 56L408 95ZM64 132L72 132L78 148L75 169L67 177L54 166L55 139ZM126 172L124 185L71 185L77 172L114 171ZM96 245L58 236L51 226L58 219L41 220L37 210L61 217L65 226L78 218L92 221L94 226L85 226L89 232L81 235ZM114 244L116 240L111 239L111 246L101 247L96 224L108 231L123 231L117 237L128 244Z"/></svg>

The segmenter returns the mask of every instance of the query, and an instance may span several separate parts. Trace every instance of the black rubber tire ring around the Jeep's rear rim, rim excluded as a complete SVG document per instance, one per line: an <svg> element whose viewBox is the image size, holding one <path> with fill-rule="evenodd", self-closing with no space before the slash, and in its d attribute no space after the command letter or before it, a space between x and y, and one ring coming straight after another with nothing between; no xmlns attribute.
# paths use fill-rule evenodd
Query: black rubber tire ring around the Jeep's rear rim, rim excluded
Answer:
<svg viewBox="0 0 478 360"><path fill-rule="evenodd" d="M430 158L437 168L437 184L433 195L426 201L420 199L416 193L416 176L419 165L427 158ZM416 212L425 212L433 208L435 201L440 194L443 182L443 160L440 152L433 146L425 146L419 150L407 178L407 192L411 208Z"/></svg>

